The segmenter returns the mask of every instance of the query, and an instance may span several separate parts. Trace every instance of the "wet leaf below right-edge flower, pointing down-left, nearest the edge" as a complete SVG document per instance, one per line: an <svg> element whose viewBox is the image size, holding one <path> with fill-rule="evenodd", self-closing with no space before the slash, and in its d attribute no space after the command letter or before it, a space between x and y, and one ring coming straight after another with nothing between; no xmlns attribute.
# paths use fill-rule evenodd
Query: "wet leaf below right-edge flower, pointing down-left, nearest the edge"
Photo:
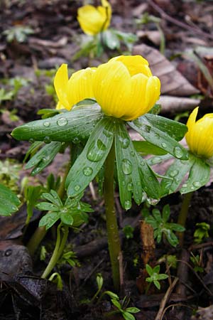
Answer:
<svg viewBox="0 0 213 320"><path fill-rule="evenodd" d="M204 186L210 178L210 167L202 159L193 156L195 159L194 164L190 170L189 178L182 185L180 193L189 193Z"/></svg>

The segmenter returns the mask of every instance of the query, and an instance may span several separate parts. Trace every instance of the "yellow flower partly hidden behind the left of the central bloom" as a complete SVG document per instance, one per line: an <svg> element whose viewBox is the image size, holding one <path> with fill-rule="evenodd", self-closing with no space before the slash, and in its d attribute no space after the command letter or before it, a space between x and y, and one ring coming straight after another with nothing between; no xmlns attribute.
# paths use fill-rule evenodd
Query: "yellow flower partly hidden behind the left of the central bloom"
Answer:
<svg viewBox="0 0 213 320"><path fill-rule="evenodd" d="M54 79L55 91L59 100L56 109L71 110L77 102L94 97L92 90L94 70L96 68L79 70L68 79L67 65L60 66Z"/></svg>

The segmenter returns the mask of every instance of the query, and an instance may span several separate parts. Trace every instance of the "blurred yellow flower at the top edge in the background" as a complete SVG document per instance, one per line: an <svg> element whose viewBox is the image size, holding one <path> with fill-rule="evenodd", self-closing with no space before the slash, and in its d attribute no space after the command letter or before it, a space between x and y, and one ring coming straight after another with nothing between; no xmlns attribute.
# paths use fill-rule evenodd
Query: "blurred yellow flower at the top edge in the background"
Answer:
<svg viewBox="0 0 213 320"><path fill-rule="evenodd" d="M77 11L77 20L84 33L89 36L106 30L111 20L111 6L107 0L102 0L102 6L82 6Z"/></svg>

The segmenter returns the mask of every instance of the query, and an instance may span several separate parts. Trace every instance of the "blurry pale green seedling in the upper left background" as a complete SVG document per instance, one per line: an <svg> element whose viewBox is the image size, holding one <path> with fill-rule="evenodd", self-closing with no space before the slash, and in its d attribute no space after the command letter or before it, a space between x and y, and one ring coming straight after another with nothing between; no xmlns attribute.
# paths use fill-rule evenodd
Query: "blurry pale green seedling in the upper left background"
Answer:
<svg viewBox="0 0 213 320"><path fill-rule="evenodd" d="M13 26L6 29L2 34L6 36L6 41L11 43L16 40L19 43L26 42L29 35L33 34L34 31L28 26Z"/></svg>

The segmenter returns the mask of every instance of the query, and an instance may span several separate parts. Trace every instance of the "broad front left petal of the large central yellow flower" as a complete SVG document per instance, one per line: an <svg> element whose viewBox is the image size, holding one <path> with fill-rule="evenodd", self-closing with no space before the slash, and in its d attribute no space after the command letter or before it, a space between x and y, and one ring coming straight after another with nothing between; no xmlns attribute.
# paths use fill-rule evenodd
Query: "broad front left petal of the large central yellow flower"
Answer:
<svg viewBox="0 0 213 320"><path fill-rule="evenodd" d="M92 78L94 97L105 114L123 117L131 92L131 77L125 65L111 61L99 65Z"/></svg>

